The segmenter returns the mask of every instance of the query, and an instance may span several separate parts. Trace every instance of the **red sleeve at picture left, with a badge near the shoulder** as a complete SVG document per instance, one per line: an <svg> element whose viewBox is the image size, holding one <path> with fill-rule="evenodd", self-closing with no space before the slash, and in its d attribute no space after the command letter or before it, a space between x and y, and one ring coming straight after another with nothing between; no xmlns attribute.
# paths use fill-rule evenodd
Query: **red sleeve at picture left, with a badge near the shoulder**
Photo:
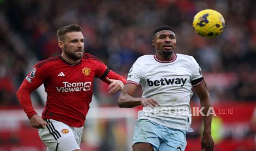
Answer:
<svg viewBox="0 0 256 151"><path fill-rule="evenodd" d="M37 114L32 106L30 94L43 83L44 79L45 78L41 74L41 68L35 66L35 68L32 69L32 71L23 80L23 83L17 91L17 97L21 107L29 119L32 115Z"/></svg>

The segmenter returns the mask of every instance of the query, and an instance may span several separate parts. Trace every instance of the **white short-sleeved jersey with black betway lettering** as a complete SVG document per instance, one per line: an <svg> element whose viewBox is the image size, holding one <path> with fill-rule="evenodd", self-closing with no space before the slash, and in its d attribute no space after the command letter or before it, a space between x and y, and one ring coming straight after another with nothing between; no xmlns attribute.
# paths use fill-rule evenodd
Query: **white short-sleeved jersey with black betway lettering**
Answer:
<svg viewBox="0 0 256 151"><path fill-rule="evenodd" d="M135 61L127 83L141 84L144 98L153 98L159 107L144 107L138 119L149 119L174 129L193 131L190 98L192 86L203 82L200 67L194 57L175 54L171 61L161 61L156 55L144 55Z"/></svg>

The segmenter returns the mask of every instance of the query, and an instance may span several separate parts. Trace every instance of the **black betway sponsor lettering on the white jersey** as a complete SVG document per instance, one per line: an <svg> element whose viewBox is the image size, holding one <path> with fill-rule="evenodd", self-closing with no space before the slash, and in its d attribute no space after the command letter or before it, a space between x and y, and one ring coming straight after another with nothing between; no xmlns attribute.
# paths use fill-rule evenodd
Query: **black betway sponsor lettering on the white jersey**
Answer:
<svg viewBox="0 0 256 151"><path fill-rule="evenodd" d="M186 83L187 78L173 78L173 79L167 79L167 78L161 78L160 80L154 80L151 81L150 79L147 79L146 82L148 82L149 86L159 86L159 85L179 85L184 86Z"/></svg>

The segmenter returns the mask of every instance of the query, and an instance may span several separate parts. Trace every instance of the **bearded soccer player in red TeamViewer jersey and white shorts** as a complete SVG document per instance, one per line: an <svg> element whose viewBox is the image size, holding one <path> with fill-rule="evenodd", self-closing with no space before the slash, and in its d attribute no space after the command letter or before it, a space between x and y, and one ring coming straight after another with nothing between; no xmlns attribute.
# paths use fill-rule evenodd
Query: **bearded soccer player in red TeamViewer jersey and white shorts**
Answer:
<svg viewBox="0 0 256 151"><path fill-rule="evenodd" d="M30 125L39 129L47 150L80 150L94 78L110 84L109 94L122 90L126 79L95 56L84 53L80 26L61 27L57 36L62 55L37 63L20 85L17 97ZM47 92L42 117L35 112L30 98L30 93L41 84Z"/></svg>

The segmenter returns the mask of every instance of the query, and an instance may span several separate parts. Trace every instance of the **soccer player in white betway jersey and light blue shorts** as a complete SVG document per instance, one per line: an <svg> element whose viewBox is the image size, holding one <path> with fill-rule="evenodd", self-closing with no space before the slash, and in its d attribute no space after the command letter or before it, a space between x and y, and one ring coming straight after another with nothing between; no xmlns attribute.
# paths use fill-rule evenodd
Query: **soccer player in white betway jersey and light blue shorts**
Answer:
<svg viewBox="0 0 256 151"><path fill-rule="evenodd" d="M186 132L193 131L190 128L191 89L197 92L205 115L211 106L209 91L194 57L174 52L176 35L171 27L160 26L152 36L156 54L144 55L135 61L118 98L118 106L144 106L134 126L134 151L185 150ZM139 84L142 97L133 97ZM204 116L203 122L201 148L213 150L211 116Z"/></svg>

